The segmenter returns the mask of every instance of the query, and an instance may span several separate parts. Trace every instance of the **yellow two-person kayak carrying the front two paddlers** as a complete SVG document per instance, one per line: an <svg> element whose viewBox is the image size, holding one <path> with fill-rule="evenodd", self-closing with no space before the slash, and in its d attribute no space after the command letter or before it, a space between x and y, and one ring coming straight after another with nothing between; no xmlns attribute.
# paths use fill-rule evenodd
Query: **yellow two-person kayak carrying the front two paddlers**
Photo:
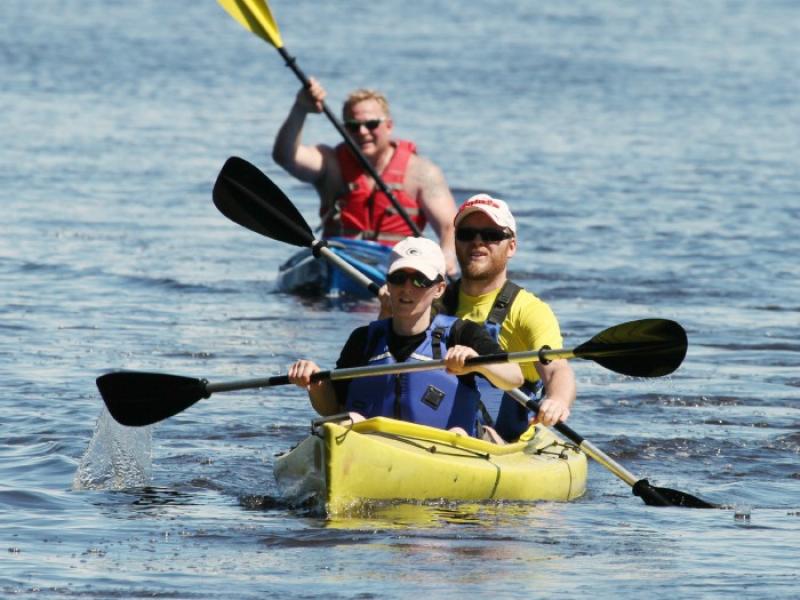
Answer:
<svg viewBox="0 0 800 600"><path fill-rule="evenodd" d="M384 417L316 422L275 462L284 497L329 514L384 500L566 501L584 493L586 472L586 455L545 427L501 446Z"/></svg>

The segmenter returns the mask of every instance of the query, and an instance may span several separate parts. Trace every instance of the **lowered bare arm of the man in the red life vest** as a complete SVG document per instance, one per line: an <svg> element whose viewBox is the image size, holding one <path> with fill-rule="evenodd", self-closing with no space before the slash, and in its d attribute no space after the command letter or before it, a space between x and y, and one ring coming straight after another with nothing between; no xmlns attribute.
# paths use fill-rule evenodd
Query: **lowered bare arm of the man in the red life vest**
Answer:
<svg viewBox="0 0 800 600"><path fill-rule="evenodd" d="M447 185L442 170L429 160L416 157L415 180L418 185L417 200L425 217L439 237L444 252L448 275L455 275L456 266L455 229L456 203Z"/></svg>

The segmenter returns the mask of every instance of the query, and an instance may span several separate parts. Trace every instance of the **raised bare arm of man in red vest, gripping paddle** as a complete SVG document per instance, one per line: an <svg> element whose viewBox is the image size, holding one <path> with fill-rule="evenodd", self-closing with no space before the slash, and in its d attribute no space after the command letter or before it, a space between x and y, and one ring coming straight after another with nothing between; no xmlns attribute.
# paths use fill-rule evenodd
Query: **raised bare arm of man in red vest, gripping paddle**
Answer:
<svg viewBox="0 0 800 600"><path fill-rule="evenodd" d="M302 143L303 125L311 112L321 112L325 90L314 79L311 87L301 88L289 115L278 130L272 158L291 175L307 183L315 183L325 174L326 153L322 146Z"/></svg>

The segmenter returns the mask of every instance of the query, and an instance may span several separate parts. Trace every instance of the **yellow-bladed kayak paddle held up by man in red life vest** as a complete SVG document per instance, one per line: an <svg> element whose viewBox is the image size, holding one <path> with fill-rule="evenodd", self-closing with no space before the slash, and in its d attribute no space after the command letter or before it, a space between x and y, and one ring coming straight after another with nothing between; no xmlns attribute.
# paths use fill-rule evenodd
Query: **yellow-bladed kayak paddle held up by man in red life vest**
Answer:
<svg viewBox="0 0 800 600"><path fill-rule="evenodd" d="M222 8L224 8L228 14L230 14L242 27L272 44L283 57L283 60L286 62L286 66L289 67L295 75L297 75L297 78L305 87L309 87L311 85L308 77L306 77L306 74L303 73L299 66L297 66L297 61L295 58L286 51L286 48L283 47L283 40L281 39L281 34L278 30L278 24L275 22L275 18L272 16L272 11L270 10L269 5L264 0L218 1ZM408 216L406 210L403 208L400 202L397 201L397 198L395 198L394 194L392 194L389 186L387 186L383 179L381 179L381 176L375 170L375 167L370 164L370 162L361 152L361 149L353 141L353 138L350 137L350 134L347 133L347 130L342 126L336 116L331 112L330 108L328 108L328 105L324 102L322 103L322 111L344 138L345 143L350 148L358 162L361 163L361 166L364 167L364 170L369 173L370 177L372 177L372 179L375 181L375 184L384 194L386 194L387 198L389 198L389 201L392 203L394 209L403 218L406 224L408 224L408 226L411 228L411 231L414 232L414 235L417 237L421 236L422 232L419 230L419 227L417 227L417 224L411 219L411 217Z"/></svg>

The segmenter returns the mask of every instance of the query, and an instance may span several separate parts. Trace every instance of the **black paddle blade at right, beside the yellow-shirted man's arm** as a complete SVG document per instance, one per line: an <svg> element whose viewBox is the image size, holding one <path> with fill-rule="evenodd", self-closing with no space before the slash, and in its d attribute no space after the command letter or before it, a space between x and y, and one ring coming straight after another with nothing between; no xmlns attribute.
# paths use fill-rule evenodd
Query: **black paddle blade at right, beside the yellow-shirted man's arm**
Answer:
<svg viewBox="0 0 800 600"><path fill-rule="evenodd" d="M641 319L601 331L574 354L623 375L661 377L680 366L687 346L686 331L675 321Z"/></svg>

